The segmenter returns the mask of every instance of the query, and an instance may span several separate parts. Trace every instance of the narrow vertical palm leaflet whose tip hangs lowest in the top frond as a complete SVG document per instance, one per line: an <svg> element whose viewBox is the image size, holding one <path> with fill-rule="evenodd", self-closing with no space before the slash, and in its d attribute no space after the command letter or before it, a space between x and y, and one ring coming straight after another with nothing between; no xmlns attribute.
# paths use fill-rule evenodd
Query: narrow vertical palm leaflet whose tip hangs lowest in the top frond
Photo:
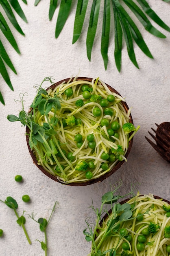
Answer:
<svg viewBox="0 0 170 256"><path fill-rule="evenodd" d="M120 25L120 19L118 16L118 11L116 10L115 6L113 5L113 13L114 13L114 23L115 23L115 50L114 50L114 57L115 63L118 71L120 72L121 69L121 62L122 62L122 27Z"/></svg>

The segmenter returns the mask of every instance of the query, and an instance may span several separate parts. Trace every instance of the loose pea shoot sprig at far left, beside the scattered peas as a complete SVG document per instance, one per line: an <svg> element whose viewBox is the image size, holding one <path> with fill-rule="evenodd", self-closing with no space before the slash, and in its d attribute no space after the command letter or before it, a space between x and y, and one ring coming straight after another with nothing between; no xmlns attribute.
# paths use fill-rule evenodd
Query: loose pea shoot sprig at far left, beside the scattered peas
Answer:
<svg viewBox="0 0 170 256"><path fill-rule="evenodd" d="M17 204L16 200L14 198L12 198L11 196L8 196L5 201L2 201L2 200L0 200L0 201L3 202L4 204L6 204L9 208L13 209L15 215L17 216L17 224L23 228L26 238L28 240L28 243L31 245L31 240L30 240L28 233L26 231L26 228L24 226L24 224L26 223L26 218L24 217L24 212L23 212L22 216L18 215L18 213L17 213L18 204Z"/></svg>

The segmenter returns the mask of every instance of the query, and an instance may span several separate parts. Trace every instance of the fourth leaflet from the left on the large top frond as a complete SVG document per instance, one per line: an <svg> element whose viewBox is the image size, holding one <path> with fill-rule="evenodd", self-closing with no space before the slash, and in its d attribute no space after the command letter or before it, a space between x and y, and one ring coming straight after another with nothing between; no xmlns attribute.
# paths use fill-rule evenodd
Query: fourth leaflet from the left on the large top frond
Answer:
<svg viewBox="0 0 170 256"><path fill-rule="evenodd" d="M93 0L92 9L90 13L89 27L87 31L86 47L87 47L87 58L91 60L92 47L94 38L96 35L98 15L100 10L100 0Z"/></svg>

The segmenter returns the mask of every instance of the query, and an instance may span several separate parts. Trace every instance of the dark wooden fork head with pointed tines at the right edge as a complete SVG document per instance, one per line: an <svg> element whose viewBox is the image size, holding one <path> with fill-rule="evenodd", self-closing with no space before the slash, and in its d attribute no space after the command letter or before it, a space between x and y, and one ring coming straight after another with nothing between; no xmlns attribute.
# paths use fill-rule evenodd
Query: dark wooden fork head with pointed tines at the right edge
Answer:
<svg viewBox="0 0 170 256"><path fill-rule="evenodd" d="M154 136L151 132L148 132L151 137L156 141L156 144L153 143L150 139L148 139L146 136L145 138L150 143L153 148L165 159L170 163L170 122L164 122L160 125L155 124L157 126L157 130L153 130L155 132Z"/></svg>

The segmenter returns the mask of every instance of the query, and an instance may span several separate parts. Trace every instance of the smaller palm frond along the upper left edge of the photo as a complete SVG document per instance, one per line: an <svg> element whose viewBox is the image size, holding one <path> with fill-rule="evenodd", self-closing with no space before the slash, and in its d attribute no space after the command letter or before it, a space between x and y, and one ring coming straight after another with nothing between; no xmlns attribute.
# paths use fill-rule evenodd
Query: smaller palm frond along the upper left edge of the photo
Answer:
<svg viewBox="0 0 170 256"><path fill-rule="evenodd" d="M27 3L26 0L22 0L25 4ZM17 13L24 22L27 22L26 16L24 15L24 12L22 11L22 8L18 2L18 0L0 0L0 9L3 9L4 12L7 15L7 18L5 18L1 11L0 11L0 30L4 34L5 38L9 41L11 46L15 49L15 51L20 54L19 47L17 45L17 42L11 32L11 29L9 28L8 22L11 22L13 27L24 36L24 32L22 31L20 25L18 24L15 15L13 13L13 10ZM7 21L8 20L8 21ZM0 40L0 74L2 75L4 81L7 83L9 88L13 90L13 86L11 83L11 80L9 78L9 74L7 72L6 65L8 65L11 70L17 74L15 67L13 66L13 63L11 62L11 59L9 58L9 55L7 54L7 51L4 48L4 45L2 44L2 40ZM5 104L2 93L0 92L0 102L2 104Z"/></svg>

